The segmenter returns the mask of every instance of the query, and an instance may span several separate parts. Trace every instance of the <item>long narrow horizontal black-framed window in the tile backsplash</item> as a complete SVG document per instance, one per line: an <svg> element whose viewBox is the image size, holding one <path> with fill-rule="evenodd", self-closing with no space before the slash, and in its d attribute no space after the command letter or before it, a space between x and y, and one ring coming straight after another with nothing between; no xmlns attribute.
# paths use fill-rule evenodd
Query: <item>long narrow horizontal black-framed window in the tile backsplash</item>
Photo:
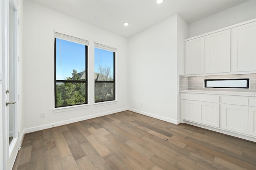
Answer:
<svg viewBox="0 0 256 170"><path fill-rule="evenodd" d="M249 78L242 79L204 79L205 88L249 89Z"/></svg>

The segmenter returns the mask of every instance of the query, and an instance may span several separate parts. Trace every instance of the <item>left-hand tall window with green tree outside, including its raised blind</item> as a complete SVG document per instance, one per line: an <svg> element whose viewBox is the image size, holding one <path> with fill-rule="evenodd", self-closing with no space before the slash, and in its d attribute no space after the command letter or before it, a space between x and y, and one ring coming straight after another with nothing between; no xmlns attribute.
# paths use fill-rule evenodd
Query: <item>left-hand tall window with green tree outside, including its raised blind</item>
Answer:
<svg viewBox="0 0 256 170"><path fill-rule="evenodd" d="M88 102L87 56L88 41L55 32L55 108Z"/></svg>

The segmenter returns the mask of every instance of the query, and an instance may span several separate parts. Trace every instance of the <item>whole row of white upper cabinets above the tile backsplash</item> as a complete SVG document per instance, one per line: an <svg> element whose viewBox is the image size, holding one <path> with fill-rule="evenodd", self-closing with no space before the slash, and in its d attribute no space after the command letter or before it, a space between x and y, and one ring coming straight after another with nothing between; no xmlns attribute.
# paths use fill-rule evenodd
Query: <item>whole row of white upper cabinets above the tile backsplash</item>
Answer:
<svg viewBox="0 0 256 170"><path fill-rule="evenodd" d="M185 75L256 73L256 19L185 40Z"/></svg>

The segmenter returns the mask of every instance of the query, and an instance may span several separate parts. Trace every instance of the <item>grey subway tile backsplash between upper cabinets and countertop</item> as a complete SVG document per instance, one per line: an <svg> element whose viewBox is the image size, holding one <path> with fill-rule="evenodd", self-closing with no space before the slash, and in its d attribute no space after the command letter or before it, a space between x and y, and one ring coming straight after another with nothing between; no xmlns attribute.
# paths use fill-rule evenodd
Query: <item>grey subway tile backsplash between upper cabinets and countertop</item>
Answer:
<svg viewBox="0 0 256 170"><path fill-rule="evenodd" d="M249 89L204 88L204 79L235 79L235 78L250 78ZM194 76L194 77L184 77L180 75L180 91L182 90L236 91L236 92L256 93L256 74L209 75L209 76Z"/></svg>

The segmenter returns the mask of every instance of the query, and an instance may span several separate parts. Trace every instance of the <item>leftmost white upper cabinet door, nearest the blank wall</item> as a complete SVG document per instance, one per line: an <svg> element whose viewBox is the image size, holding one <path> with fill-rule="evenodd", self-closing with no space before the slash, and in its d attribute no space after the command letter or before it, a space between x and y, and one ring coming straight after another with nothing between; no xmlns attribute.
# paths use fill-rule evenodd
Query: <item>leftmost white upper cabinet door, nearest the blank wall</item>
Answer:
<svg viewBox="0 0 256 170"><path fill-rule="evenodd" d="M204 37L185 42L185 74L204 73Z"/></svg>

